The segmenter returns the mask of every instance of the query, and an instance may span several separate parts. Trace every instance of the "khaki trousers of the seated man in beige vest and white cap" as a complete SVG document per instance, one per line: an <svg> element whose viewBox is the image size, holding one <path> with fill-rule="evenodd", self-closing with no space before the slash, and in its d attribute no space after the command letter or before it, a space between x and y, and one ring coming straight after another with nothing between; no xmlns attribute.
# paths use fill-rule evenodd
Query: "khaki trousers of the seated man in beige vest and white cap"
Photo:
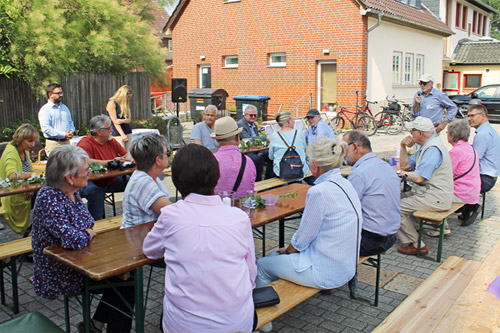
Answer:
<svg viewBox="0 0 500 333"><path fill-rule="evenodd" d="M413 217L413 213L417 210L438 212L443 209L433 206L425 198L413 195L412 192L401 193L401 226L399 227L397 236L403 245L418 241L418 231L415 229L417 220Z"/></svg>

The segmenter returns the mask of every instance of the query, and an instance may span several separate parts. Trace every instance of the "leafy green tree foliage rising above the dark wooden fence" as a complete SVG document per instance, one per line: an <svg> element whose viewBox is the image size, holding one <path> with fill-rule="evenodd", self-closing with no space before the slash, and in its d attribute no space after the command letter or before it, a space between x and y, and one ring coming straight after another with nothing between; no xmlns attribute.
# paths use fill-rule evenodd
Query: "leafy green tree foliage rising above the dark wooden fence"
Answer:
<svg viewBox="0 0 500 333"><path fill-rule="evenodd" d="M1 0L1 66L42 91L76 72L163 77L151 0ZM1 74L1 73L0 73Z"/></svg>

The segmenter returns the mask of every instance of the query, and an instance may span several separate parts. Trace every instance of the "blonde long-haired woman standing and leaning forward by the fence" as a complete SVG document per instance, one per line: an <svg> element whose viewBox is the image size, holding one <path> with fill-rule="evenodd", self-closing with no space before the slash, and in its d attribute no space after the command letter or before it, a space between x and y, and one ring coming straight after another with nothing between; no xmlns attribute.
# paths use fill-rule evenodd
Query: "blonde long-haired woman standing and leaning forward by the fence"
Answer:
<svg viewBox="0 0 500 333"><path fill-rule="evenodd" d="M106 105L106 111L108 111L112 122L111 126L113 126L111 135L126 151L130 151L130 141L132 140L130 97L132 97L132 89L127 85L121 86Z"/></svg>

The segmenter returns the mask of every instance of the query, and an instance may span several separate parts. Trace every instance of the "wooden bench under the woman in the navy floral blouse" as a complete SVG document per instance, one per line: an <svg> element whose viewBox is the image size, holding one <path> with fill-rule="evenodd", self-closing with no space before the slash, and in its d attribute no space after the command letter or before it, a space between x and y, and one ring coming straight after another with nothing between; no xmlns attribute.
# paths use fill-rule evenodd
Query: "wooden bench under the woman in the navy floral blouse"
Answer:
<svg viewBox="0 0 500 333"><path fill-rule="evenodd" d="M98 234L107 231L120 229L122 216L114 216L103 220L95 221L94 231ZM10 271L12 280L12 310L19 313L19 294L17 279L26 255L31 253L31 237L16 239L0 244L0 299L5 305L4 268ZM20 256L20 257L19 257ZM18 258L19 257L19 258ZM19 259L19 263L18 263Z"/></svg>

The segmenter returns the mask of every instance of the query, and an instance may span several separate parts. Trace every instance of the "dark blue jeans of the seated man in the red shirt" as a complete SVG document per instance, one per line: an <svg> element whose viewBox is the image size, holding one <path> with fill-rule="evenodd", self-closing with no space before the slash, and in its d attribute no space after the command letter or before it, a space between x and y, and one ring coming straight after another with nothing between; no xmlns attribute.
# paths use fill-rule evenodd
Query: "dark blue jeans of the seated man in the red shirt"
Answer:
<svg viewBox="0 0 500 333"><path fill-rule="evenodd" d="M99 186L88 182L87 186L78 190L82 198L87 199L87 208L94 220L104 218L104 197L106 193L125 191L130 176L116 177L115 181L108 186Z"/></svg>

